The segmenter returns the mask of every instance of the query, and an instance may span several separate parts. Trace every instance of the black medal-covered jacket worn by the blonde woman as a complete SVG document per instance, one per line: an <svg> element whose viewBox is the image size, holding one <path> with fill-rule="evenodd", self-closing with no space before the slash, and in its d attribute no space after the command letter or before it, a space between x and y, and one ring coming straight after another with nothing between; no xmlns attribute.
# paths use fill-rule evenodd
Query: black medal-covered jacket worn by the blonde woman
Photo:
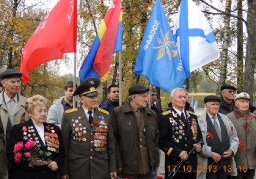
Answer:
<svg viewBox="0 0 256 179"><path fill-rule="evenodd" d="M64 161L64 146L61 130L57 125L47 122L44 122L43 125L45 145L39 137L31 119L12 127L10 143L7 149L8 162L12 164L11 179L58 179L59 171ZM42 150L52 153L47 158L57 163L58 171L52 171L47 165L30 166L28 158L24 156L24 151L21 161L15 162L14 145L21 141L25 145L28 139L39 143Z"/></svg>

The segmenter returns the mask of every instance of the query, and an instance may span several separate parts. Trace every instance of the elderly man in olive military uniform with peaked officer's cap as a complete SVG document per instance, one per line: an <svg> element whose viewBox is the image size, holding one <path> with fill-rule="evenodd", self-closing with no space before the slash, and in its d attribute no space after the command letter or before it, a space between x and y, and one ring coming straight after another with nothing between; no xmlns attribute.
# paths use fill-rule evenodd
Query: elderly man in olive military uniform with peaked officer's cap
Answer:
<svg viewBox="0 0 256 179"><path fill-rule="evenodd" d="M82 105L64 112L65 159L62 179L106 179L116 176L116 153L109 113L98 105L99 80L88 78L75 90Z"/></svg>

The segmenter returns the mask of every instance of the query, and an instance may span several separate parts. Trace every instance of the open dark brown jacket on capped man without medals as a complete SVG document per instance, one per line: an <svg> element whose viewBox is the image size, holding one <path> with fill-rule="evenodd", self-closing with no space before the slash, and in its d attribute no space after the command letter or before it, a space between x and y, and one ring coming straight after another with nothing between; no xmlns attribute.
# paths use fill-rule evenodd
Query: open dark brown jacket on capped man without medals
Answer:
<svg viewBox="0 0 256 179"><path fill-rule="evenodd" d="M143 108L143 118L145 122L146 144L149 149L149 159L151 170L159 167L159 130L156 113ZM135 114L126 102L124 105L116 107L111 115L113 132L116 145L117 168L123 171L137 171L138 164L138 128Z"/></svg>

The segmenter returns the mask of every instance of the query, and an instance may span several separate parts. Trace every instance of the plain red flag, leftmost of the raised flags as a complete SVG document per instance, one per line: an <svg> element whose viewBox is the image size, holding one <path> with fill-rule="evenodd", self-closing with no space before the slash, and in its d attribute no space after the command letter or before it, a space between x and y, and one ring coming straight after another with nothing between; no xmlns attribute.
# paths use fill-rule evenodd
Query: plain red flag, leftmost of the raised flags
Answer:
<svg viewBox="0 0 256 179"><path fill-rule="evenodd" d="M21 56L22 80L36 66L76 52L77 0L60 0L33 32Z"/></svg>

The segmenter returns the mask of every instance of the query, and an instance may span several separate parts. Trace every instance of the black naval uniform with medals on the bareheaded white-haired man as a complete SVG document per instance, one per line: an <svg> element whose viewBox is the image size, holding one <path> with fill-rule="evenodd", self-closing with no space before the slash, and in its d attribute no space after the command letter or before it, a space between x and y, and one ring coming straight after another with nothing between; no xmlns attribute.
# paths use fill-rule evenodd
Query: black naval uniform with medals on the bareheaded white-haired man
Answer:
<svg viewBox="0 0 256 179"><path fill-rule="evenodd" d="M182 150L189 153L193 149L193 144L202 139L197 116L190 111L185 110L185 113L187 116L186 123L173 108L159 117L159 147L165 153L165 176L181 161L179 155ZM179 173L194 174L196 170L197 156L195 150L193 150L187 162L184 162L180 167Z"/></svg>

